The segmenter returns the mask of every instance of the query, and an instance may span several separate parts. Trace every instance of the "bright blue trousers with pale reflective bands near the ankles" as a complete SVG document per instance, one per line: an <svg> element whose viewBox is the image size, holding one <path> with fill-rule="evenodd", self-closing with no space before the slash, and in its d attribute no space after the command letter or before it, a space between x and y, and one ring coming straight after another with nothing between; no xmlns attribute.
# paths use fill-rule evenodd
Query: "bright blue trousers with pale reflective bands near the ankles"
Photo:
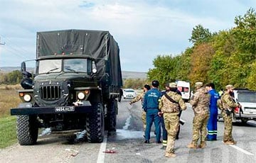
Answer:
<svg viewBox="0 0 256 163"><path fill-rule="evenodd" d="M207 129L208 129L207 140L217 140L217 117L218 117L217 109L210 108L210 118L207 124Z"/></svg>

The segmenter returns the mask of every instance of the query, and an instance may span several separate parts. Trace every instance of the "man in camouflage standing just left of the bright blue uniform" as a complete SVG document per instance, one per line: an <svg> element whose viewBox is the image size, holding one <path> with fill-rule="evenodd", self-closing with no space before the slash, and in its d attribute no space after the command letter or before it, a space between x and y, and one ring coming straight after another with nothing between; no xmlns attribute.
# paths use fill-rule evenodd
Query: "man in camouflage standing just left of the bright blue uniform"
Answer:
<svg viewBox="0 0 256 163"><path fill-rule="evenodd" d="M195 114L193 118L193 138L191 144L187 146L193 149L206 147L206 126L209 119L210 103L210 95L206 88L203 87L202 82L196 82L195 89L196 93L193 94L190 101ZM201 138L201 143L197 146L199 138Z"/></svg>

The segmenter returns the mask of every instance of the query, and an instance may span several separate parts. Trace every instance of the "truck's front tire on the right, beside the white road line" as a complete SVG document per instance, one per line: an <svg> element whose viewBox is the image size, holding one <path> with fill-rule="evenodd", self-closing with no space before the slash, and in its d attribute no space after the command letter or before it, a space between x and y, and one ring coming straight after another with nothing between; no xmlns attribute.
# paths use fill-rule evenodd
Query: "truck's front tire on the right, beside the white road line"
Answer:
<svg viewBox="0 0 256 163"><path fill-rule="evenodd" d="M102 103L96 103L95 109L86 118L88 142L102 142L104 137L104 116Z"/></svg>

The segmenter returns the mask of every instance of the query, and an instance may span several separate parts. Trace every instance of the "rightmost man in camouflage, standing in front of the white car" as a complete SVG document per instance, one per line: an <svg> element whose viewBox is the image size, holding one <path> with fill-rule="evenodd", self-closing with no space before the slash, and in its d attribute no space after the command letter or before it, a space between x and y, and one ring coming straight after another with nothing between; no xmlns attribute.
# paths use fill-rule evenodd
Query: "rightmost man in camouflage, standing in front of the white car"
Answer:
<svg viewBox="0 0 256 163"><path fill-rule="evenodd" d="M224 135L223 142L225 145L235 145L236 142L232 136L232 112L236 107L241 107L238 103L233 101L232 96L230 94L233 93L234 86L229 84L225 86L225 93L221 96L221 102L223 105L223 110L221 111L221 115L224 120Z"/></svg>

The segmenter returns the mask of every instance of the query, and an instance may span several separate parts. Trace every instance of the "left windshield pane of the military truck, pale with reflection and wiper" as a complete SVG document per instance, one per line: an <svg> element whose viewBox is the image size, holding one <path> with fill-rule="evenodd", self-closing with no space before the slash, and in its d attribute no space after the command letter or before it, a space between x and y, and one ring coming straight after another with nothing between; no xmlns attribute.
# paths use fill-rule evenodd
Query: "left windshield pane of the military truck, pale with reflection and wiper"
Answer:
<svg viewBox="0 0 256 163"><path fill-rule="evenodd" d="M61 60L40 60L38 74L61 71Z"/></svg>

